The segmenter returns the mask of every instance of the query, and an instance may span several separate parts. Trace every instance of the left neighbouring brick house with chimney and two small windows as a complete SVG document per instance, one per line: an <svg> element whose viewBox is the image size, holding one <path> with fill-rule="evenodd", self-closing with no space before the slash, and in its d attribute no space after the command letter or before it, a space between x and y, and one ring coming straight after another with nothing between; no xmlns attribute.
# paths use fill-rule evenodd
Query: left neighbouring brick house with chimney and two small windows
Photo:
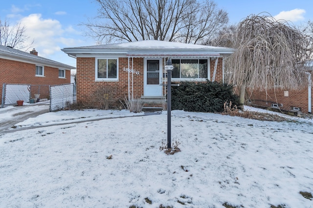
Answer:
<svg viewBox="0 0 313 208"><path fill-rule="evenodd" d="M5 83L28 84L32 94L47 97L48 85L70 83L71 69L75 67L38 56L35 49L27 53L0 45L0 95Z"/></svg>

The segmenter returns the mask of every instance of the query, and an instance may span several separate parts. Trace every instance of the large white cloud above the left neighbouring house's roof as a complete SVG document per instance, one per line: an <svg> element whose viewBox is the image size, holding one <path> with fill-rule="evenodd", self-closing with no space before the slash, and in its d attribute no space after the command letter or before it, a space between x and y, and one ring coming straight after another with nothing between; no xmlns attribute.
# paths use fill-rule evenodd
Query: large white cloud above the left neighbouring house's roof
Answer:
<svg viewBox="0 0 313 208"><path fill-rule="evenodd" d="M32 5L40 6L40 5ZM25 35L30 37L25 46L31 44L31 48L35 48L38 55L51 60L59 61L68 65L76 66L75 59L68 57L67 54L61 51L65 47L75 47L77 45L93 45L93 40L84 40L81 32L72 25L62 25L58 19L43 18L42 14L30 14L22 16L19 12L27 10L29 6L24 6L22 9L12 7L11 17L16 19L16 23L25 26ZM14 13L13 13L14 10ZM59 13L61 14L61 13ZM26 52L28 52L26 51Z"/></svg>

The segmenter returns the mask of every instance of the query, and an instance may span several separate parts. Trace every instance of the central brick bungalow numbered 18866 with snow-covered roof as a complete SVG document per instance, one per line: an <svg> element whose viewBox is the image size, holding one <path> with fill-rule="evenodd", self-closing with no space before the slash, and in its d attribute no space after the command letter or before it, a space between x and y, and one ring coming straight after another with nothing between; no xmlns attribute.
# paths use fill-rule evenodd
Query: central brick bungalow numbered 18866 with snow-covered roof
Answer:
<svg viewBox="0 0 313 208"><path fill-rule="evenodd" d="M172 81L224 81L224 58L232 48L160 40L62 49L76 58L76 99L90 102L100 86L113 86L122 99L162 99L166 95L164 70L171 58ZM104 95L107 96L107 95Z"/></svg>

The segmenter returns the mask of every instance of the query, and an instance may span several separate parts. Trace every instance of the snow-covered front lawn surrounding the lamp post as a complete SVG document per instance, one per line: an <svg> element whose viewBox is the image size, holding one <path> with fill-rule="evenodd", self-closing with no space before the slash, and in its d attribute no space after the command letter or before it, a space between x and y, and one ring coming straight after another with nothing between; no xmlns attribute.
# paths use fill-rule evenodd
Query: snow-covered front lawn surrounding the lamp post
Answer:
<svg viewBox="0 0 313 208"><path fill-rule="evenodd" d="M313 119L173 111L167 155L166 112L138 115L45 113L0 134L0 207L313 207Z"/></svg>

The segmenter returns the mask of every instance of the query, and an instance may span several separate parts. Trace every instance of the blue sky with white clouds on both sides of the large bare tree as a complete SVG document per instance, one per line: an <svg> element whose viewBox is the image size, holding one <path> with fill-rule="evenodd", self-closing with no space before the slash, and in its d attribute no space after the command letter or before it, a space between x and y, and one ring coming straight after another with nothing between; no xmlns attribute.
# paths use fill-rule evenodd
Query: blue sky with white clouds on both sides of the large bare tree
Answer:
<svg viewBox="0 0 313 208"><path fill-rule="evenodd" d="M230 23L239 23L250 14L268 12L276 19L303 24L313 20L311 0L215 0L219 8L228 12ZM95 40L83 35L83 27L97 13L93 0L3 0L0 19L11 25L21 22L27 35L34 38L33 48L39 56L76 66L75 59L61 51L66 47L95 45Z"/></svg>

